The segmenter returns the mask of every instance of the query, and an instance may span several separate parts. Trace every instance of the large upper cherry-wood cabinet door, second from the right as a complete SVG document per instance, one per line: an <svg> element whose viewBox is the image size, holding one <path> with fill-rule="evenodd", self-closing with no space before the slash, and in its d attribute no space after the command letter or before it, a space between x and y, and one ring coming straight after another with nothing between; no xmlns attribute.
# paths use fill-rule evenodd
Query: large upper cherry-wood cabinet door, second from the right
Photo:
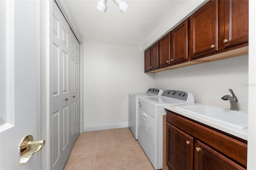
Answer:
<svg viewBox="0 0 256 170"><path fill-rule="evenodd" d="M190 17L191 58L218 51L218 0L210 0Z"/></svg>

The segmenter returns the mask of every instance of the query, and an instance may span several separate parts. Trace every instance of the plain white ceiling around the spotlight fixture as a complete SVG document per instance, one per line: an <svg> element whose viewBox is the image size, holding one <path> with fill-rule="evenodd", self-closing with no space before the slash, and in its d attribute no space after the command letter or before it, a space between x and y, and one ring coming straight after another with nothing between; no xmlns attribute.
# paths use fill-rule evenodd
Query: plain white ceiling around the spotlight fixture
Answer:
<svg viewBox="0 0 256 170"><path fill-rule="evenodd" d="M65 0L83 40L143 45L190 0L124 0L124 14L112 1L100 12L98 0Z"/></svg>

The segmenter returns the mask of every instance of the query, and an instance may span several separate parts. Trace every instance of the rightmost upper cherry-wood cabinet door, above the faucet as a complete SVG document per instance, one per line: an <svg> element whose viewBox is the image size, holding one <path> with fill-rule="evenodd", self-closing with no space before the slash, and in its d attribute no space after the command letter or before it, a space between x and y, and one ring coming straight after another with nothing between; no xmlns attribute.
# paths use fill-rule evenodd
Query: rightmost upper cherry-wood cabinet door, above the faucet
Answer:
<svg viewBox="0 0 256 170"><path fill-rule="evenodd" d="M248 42L248 0L225 0L224 48Z"/></svg>

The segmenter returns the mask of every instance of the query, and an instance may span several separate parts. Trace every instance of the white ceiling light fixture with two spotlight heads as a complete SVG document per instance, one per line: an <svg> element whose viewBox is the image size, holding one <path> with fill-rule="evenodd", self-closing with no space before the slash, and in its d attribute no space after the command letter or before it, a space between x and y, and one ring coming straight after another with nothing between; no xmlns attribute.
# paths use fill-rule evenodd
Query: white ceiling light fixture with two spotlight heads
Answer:
<svg viewBox="0 0 256 170"><path fill-rule="evenodd" d="M128 8L128 4L122 0L113 0L115 2L115 4L118 6L118 9L120 10L120 12L124 13L127 8ZM97 8L98 10L100 10L101 12L106 12L107 11L107 0L100 0L97 4Z"/></svg>

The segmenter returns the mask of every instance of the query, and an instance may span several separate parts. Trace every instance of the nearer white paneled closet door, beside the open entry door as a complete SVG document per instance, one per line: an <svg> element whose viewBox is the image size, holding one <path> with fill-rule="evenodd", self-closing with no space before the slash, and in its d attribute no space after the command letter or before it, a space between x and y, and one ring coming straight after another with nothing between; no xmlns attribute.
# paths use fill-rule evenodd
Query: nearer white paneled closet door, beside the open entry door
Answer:
<svg viewBox="0 0 256 170"><path fill-rule="evenodd" d="M52 164L63 169L71 151L69 43L70 27L56 3L52 7Z"/></svg>

